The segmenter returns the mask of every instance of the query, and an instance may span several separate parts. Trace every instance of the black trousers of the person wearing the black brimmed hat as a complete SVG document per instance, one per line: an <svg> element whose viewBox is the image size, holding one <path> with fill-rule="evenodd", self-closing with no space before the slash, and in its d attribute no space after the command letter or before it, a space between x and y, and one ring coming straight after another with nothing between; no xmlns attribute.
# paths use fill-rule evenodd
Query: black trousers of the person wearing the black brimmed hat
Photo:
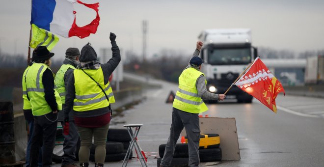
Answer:
<svg viewBox="0 0 324 167"><path fill-rule="evenodd" d="M57 113L34 116L34 134L30 146L30 167L38 167L39 149L42 148L43 167L51 167L55 145Z"/></svg>

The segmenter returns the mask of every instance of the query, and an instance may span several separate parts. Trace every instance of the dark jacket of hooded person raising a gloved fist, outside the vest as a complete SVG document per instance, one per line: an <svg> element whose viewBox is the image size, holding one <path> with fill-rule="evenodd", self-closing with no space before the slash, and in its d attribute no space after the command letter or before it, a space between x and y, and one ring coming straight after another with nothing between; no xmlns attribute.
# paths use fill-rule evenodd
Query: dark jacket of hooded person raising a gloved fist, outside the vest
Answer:
<svg viewBox="0 0 324 167"><path fill-rule="evenodd" d="M112 51L112 58L110 58L108 60L107 63L105 64L101 64L101 68L103 70L104 73L104 83L107 84L109 81L109 76L112 74L112 72L115 70L115 68L117 67L117 65L120 62L120 51L119 48L116 44L115 41L111 42L111 51ZM67 116L67 114L73 110L73 100L75 98L75 87L74 87L74 73L73 71L67 71L66 73L68 74L68 82L69 84L67 85L67 87L65 87L66 89L66 95L65 95L65 106L64 106L64 114L65 116ZM101 108L101 109L96 109L96 110L91 110L91 111L86 111L86 112L78 112L78 111L74 111L74 114L78 117L93 117L93 116L100 116L103 115L105 113L109 112L109 108L105 107L105 108Z"/></svg>

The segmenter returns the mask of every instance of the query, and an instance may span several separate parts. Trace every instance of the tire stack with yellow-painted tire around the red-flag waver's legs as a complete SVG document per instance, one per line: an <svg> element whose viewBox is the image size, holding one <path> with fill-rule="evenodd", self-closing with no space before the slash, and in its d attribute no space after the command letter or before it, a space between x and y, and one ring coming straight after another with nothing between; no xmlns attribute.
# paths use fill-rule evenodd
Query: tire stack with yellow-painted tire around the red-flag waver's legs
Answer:
<svg viewBox="0 0 324 167"><path fill-rule="evenodd" d="M218 134L205 134L200 135L199 143L199 159L200 162L216 162L221 161L221 148L219 147L219 135ZM212 141L212 142L210 142ZM187 140L186 140L187 142ZM161 160L164 155L165 144L159 146L159 155L157 165L161 164ZM171 167L188 167L189 162L188 143L176 144Z"/></svg>

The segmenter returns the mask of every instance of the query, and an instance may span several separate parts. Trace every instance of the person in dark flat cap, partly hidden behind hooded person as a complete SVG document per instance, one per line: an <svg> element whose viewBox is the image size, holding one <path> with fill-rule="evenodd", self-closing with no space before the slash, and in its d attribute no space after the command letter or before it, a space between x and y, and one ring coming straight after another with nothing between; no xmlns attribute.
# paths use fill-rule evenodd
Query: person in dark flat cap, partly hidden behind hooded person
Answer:
<svg viewBox="0 0 324 167"><path fill-rule="evenodd" d="M55 89L60 95L63 109L65 103L65 87L68 83L68 74L73 72L74 69L79 64L80 51L78 48L68 48L65 52L65 59L63 65L57 71L55 76ZM64 125L64 113L58 112L58 121L61 122L61 125ZM63 133L64 142L63 142L63 156L61 167L78 167L74 164L76 159L76 149L79 139L78 129L74 124L73 112L69 114L69 133L66 135Z"/></svg>

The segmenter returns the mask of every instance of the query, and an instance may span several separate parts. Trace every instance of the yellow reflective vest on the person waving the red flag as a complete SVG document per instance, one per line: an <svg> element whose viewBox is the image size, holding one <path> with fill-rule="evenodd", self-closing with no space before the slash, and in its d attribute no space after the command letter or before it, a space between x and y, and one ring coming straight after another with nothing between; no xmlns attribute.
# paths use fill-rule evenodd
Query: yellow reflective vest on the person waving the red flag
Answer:
<svg viewBox="0 0 324 167"><path fill-rule="evenodd" d="M198 96L196 81L204 73L192 67L185 69L179 77L179 88L173 101L173 107L190 113L201 113L208 108ZM205 80L205 84L207 81Z"/></svg>

